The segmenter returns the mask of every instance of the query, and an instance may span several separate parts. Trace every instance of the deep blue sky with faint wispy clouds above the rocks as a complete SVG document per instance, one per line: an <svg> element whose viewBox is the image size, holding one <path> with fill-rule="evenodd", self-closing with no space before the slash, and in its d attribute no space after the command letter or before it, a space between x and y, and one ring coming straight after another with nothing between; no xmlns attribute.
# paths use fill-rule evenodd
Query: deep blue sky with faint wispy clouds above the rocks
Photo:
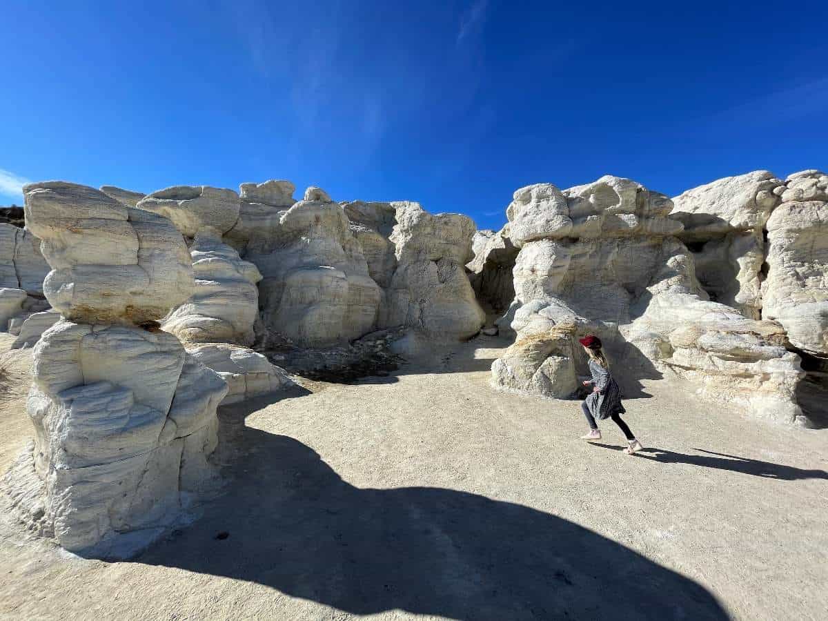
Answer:
<svg viewBox="0 0 828 621"><path fill-rule="evenodd" d="M498 228L530 183L828 167L828 2L0 8L0 204L276 178Z"/></svg>

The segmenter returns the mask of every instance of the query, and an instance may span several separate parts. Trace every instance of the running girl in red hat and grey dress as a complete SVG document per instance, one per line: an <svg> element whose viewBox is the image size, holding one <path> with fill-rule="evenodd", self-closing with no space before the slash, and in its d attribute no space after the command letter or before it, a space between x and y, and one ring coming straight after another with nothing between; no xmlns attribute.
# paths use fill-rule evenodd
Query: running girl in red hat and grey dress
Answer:
<svg viewBox="0 0 828 621"><path fill-rule="evenodd" d="M586 397L585 402L580 404L580 408L586 416L586 421L590 423L590 433L580 437L584 440L600 440L601 432L598 431L595 419L603 421L605 418L612 418L614 423L623 431L623 435L627 436L629 445L623 452L627 455L633 455L633 453L643 450L644 447L641 442L635 439L633 432L629 431L627 423L621 420L621 414L625 414L627 411L621 405L621 389L609 374L607 357L601 351L601 339L595 335L588 335L583 339L578 339L578 342L584 346L586 355L590 357L592 379L586 380L584 386L593 385L592 394Z"/></svg>

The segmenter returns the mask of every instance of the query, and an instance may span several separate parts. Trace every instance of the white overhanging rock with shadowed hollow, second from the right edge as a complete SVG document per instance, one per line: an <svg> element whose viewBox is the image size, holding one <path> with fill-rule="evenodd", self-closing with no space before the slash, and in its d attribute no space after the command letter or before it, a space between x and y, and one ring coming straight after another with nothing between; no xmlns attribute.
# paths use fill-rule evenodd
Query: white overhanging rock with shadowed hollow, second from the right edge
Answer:
<svg viewBox="0 0 828 621"><path fill-rule="evenodd" d="M762 315L763 229L782 202L782 181L768 171L725 177L673 199L671 217L711 298L751 319Z"/></svg>

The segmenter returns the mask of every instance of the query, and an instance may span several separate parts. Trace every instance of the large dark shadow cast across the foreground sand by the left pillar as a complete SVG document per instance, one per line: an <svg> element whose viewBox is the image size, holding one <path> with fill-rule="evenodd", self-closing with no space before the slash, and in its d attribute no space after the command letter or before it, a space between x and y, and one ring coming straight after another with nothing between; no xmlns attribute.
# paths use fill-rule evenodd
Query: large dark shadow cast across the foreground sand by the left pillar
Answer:
<svg viewBox="0 0 828 621"><path fill-rule="evenodd" d="M136 562L250 580L352 614L728 618L694 581L573 522L451 489L359 489L310 447L244 416L220 416L235 447L222 458L227 493Z"/></svg>

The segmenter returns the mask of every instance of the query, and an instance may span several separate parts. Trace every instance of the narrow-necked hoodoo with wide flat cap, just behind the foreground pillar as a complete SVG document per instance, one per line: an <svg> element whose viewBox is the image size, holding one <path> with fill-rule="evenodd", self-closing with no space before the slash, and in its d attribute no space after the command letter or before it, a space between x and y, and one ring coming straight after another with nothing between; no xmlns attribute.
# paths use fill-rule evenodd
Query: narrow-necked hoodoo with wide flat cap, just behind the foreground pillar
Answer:
<svg viewBox="0 0 828 621"><path fill-rule="evenodd" d="M222 236L238 222L238 195L208 186L176 186L147 195L139 209L171 219L193 239L195 291L163 322L164 330L190 343L253 344L258 315L258 269L239 258Z"/></svg>

